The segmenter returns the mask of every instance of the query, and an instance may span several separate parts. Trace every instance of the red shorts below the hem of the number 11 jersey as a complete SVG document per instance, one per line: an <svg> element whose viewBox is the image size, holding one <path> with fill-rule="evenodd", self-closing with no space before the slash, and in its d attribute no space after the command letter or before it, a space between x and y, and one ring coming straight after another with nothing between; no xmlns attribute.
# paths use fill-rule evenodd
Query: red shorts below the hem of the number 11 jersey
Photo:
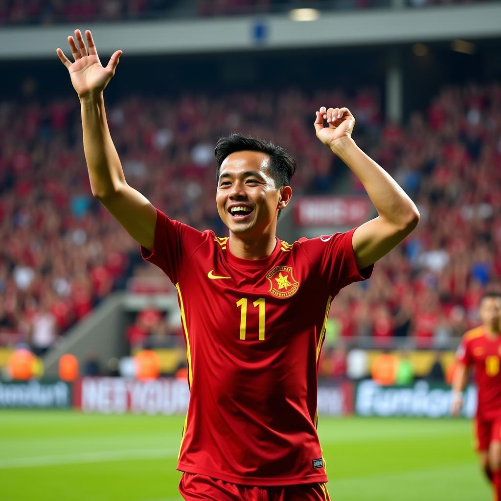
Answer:
<svg viewBox="0 0 501 501"><path fill-rule="evenodd" d="M325 483L251 487L188 472L181 475L179 492L185 501L331 501Z"/></svg>

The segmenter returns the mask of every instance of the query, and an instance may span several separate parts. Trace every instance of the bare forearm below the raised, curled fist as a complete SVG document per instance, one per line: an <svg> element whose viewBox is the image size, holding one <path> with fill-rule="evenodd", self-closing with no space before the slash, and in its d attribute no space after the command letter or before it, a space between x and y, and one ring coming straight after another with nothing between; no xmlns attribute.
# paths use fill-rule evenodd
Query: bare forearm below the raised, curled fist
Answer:
<svg viewBox="0 0 501 501"><path fill-rule="evenodd" d="M417 207L405 191L352 138L338 141L331 150L360 179L380 217L403 227L418 218Z"/></svg>

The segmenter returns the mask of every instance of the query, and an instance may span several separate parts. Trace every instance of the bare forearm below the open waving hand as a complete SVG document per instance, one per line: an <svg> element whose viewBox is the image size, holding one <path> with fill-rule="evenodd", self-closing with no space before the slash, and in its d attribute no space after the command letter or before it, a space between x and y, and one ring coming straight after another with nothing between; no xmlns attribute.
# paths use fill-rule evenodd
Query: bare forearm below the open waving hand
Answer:
<svg viewBox="0 0 501 501"><path fill-rule="evenodd" d="M125 184L125 176L108 129L102 93L81 98L80 105L92 193L97 198L104 198Z"/></svg>

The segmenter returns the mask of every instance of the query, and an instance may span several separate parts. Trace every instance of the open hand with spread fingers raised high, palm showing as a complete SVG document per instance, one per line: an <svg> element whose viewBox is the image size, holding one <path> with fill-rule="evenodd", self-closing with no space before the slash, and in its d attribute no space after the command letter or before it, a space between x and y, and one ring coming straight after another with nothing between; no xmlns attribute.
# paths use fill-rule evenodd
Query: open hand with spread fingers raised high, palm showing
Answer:
<svg viewBox="0 0 501 501"><path fill-rule="evenodd" d="M111 77L115 74L119 58L122 55L122 51L115 51L111 56L108 65L103 67L97 54L92 33L87 30L85 32L85 36L87 38L89 52L87 52L80 30L75 30L76 43L73 37L68 37L68 44L70 45L70 49L75 60L74 63L72 63L64 55L61 49L58 48L56 50L59 59L66 66L66 68L68 68L73 87L80 97L83 97L86 94L102 92L108 85Z"/></svg>

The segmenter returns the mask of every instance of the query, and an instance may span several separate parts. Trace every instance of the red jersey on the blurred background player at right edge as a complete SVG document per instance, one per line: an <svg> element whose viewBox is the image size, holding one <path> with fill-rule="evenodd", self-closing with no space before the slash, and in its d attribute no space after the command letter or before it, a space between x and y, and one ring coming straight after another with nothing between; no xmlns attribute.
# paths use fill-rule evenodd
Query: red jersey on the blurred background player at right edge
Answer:
<svg viewBox="0 0 501 501"><path fill-rule="evenodd" d="M468 331L457 351L459 362L474 367L478 387L477 416L501 418L501 336L488 337L483 326Z"/></svg>

